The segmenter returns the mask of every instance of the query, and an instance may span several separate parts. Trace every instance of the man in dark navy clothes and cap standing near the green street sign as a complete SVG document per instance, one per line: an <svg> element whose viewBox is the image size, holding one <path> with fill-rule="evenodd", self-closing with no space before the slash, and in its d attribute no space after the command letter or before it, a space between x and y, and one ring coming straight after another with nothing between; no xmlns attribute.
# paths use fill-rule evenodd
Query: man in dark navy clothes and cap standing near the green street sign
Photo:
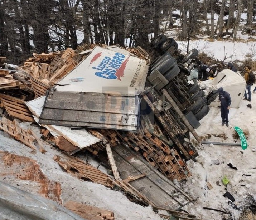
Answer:
<svg viewBox="0 0 256 220"><path fill-rule="evenodd" d="M221 119L222 126L226 123L228 127L228 113L231 105L231 97L228 92L225 92L222 87L218 88L219 101L221 102Z"/></svg>

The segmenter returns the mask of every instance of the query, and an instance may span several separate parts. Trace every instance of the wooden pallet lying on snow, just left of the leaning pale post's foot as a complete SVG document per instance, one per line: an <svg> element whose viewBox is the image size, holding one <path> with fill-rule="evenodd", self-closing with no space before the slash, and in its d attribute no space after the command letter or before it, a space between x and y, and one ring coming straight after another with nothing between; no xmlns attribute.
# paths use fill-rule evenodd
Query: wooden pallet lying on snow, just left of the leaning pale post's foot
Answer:
<svg viewBox="0 0 256 220"><path fill-rule="evenodd" d="M55 155L53 159L57 161L64 170L77 176L79 179L90 180L107 187L113 187L115 185L106 174L91 165L85 164L76 157L63 158Z"/></svg>

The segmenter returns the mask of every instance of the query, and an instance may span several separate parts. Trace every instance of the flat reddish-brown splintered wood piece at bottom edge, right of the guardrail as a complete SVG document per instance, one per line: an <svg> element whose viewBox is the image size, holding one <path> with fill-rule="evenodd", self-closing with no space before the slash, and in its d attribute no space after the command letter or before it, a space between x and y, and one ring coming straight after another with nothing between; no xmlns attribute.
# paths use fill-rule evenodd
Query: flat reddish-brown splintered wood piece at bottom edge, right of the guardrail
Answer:
<svg viewBox="0 0 256 220"><path fill-rule="evenodd" d="M87 220L115 220L114 213L106 209L100 209L91 205L85 205L74 201L68 201L64 207Z"/></svg>

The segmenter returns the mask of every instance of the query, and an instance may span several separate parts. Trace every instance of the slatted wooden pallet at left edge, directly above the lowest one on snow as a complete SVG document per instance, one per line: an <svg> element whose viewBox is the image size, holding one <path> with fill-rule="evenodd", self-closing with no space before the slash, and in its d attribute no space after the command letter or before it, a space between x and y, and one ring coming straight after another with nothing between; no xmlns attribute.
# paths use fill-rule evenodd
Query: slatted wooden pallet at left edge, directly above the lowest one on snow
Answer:
<svg viewBox="0 0 256 220"><path fill-rule="evenodd" d="M4 94L0 94L0 100L10 116L16 117L23 121L34 122L33 115L25 105L24 100Z"/></svg>

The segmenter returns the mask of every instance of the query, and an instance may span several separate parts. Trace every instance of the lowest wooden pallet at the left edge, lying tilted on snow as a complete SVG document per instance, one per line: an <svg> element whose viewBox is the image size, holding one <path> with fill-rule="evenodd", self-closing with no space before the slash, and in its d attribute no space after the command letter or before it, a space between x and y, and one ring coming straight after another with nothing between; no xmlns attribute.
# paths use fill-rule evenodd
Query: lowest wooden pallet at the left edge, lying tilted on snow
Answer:
<svg viewBox="0 0 256 220"><path fill-rule="evenodd" d="M25 129L19 126L17 120L11 121L5 117L0 121L0 129L13 136L16 140L19 140L23 144L35 150L33 141L35 138L28 133Z"/></svg>

